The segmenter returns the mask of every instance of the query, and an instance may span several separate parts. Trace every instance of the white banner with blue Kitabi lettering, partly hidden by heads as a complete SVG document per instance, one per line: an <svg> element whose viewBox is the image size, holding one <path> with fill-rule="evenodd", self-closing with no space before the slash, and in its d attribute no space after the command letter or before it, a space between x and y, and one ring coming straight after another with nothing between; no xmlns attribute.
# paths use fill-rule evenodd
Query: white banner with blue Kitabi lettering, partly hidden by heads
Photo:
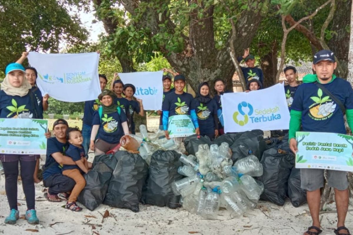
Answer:
<svg viewBox="0 0 353 235"><path fill-rule="evenodd" d="M163 100L162 71L119 73L124 84L136 87L135 97L142 99L144 110L160 110Z"/></svg>

